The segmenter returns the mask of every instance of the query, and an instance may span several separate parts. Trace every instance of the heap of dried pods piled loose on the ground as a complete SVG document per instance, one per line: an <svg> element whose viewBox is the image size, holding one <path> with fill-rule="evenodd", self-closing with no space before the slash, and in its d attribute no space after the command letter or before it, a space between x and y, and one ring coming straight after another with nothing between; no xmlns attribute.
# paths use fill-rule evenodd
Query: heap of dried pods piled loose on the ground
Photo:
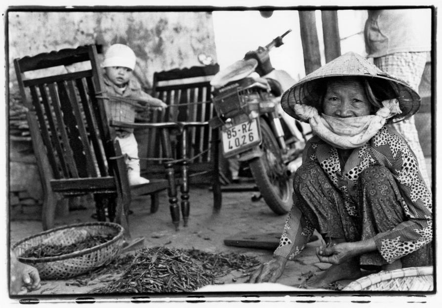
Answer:
<svg viewBox="0 0 442 308"><path fill-rule="evenodd" d="M242 271L260 264L256 257L210 254L199 250L143 248L120 279L89 293L191 292L234 269Z"/></svg>

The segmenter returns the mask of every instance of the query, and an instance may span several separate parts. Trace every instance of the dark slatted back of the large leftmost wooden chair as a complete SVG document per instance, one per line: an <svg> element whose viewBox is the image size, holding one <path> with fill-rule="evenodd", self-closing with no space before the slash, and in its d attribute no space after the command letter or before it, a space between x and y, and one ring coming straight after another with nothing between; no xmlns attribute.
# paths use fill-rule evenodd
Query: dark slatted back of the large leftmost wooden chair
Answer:
<svg viewBox="0 0 442 308"><path fill-rule="evenodd" d="M28 121L39 128L31 136L41 138L46 153L40 155L47 156L55 179L112 176L105 157L115 153L95 59L89 45L14 60ZM90 68L66 70L84 61Z"/></svg>

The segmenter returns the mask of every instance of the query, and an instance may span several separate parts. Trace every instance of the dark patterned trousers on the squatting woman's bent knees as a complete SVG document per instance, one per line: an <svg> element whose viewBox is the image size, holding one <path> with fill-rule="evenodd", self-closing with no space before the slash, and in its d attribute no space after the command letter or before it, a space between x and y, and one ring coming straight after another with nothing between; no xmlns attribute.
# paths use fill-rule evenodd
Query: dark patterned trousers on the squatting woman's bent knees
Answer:
<svg viewBox="0 0 442 308"><path fill-rule="evenodd" d="M317 162L301 165L293 179L293 202L325 238L356 242L393 229L406 220L402 196L395 179L384 166L366 168L359 176L357 216L350 216L342 193L336 189ZM402 257L402 266L431 264L431 245ZM379 252L364 254L360 264L387 264Z"/></svg>

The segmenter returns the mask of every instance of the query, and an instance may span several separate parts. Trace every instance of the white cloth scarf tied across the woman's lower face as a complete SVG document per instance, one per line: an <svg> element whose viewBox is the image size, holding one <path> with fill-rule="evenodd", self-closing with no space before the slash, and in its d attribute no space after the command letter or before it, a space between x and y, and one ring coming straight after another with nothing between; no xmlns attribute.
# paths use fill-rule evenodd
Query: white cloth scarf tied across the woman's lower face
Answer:
<svg viewBox="0 0 442 308"><path fill-rule="evenodd" d="M382 101L382 106L375 115L350 118L320 116L315 107L302 104L295 104L294 111L301 120L308 120L313 132L325 142L339 149L353 149L370 140L387 119L402 113L396 98Z"/></svg>

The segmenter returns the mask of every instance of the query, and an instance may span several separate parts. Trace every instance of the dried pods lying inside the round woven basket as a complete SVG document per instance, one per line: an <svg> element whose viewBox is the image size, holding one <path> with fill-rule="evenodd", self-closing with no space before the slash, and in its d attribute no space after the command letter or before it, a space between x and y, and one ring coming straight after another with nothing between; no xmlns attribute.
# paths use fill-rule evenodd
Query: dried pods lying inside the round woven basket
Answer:
<svg viewBox="0 0 442 308"><path fill-rule="evenodd" d="M113 234L88 234L84 239L70 245L40 244L27 249L21 258L44 258L70 254L83 249L91 248L106 243L114 238Z"/></svg>

